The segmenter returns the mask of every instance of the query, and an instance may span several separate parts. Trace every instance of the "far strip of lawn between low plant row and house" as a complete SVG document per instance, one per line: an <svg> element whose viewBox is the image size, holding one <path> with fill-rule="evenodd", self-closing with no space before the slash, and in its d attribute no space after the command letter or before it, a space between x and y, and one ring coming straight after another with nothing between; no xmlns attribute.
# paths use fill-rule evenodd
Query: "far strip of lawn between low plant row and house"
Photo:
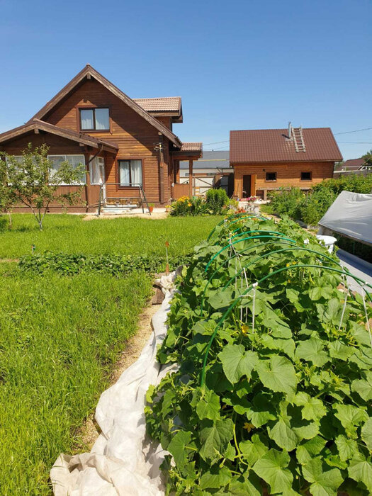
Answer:
<svg viewBox="0 0 372 496"><path fill-rule="evenodd" d="M115 218L83 220L79 215L47 215L43 231L32 215L13 215L13 230L0 233L0 258L36 252L84 254L186 254L205 238L219 216L169 217L164 220Z"/></svg>

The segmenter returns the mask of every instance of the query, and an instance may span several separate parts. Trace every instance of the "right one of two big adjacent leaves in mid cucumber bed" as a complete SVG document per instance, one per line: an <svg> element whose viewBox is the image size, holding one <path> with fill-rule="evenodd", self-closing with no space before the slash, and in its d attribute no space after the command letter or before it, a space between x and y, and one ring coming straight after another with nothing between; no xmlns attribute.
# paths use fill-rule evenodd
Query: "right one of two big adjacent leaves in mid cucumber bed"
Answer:
<svg viewBox="0 0 372 496"><path fill-rule="evenodd" d="M274 355L269 360L259 360L256 370L266 388L288 395L295 393L295 368L291 361L283 356Z"/></svg>

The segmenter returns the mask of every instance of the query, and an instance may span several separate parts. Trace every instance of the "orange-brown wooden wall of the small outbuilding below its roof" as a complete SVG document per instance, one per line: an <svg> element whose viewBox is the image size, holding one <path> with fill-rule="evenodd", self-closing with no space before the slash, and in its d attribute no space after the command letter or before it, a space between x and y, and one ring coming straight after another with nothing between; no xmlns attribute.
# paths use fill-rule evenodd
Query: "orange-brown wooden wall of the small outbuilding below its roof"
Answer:
<svg viewBox="0 0 372 496"><path fill-rule="evenodd" d="M232 164L234 165L234 164ZM296 162L291 164L239 164L234 165L234 196L239 198L243 194L243 176L256 176L255 193L257 191L272 190L281 187L297 186L311 188L323 179L332 177L334 162ZM276 172L276 181L266 181L266 172ZM301 181L301 172L311 172L311 181Z"/></svg>

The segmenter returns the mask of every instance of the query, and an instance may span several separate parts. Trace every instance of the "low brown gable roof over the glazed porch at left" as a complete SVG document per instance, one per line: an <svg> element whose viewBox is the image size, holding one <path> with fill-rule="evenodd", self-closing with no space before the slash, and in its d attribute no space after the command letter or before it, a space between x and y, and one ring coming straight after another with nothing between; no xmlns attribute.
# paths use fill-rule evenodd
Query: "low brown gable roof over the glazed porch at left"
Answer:
<svg viewBox="0 0 372 496"><path fill-rule="evenodd" d="M76 141L83 143L84 145L99 148L102 147L103 150L108 152L116 152L118 150L118 145L108 142L106 140L100 140L96 137L86 135L84 133L75 133L72 130L59 128L57 125L46 123L44 120L33 119L24 125L20 125L18 128L6 131L6 133L0 134L0 143L13 140L14 138L31 133L32 131L45 131L45 133L51 133L52 135L57 135L60 137L65 137L67 140Z"/></svg>

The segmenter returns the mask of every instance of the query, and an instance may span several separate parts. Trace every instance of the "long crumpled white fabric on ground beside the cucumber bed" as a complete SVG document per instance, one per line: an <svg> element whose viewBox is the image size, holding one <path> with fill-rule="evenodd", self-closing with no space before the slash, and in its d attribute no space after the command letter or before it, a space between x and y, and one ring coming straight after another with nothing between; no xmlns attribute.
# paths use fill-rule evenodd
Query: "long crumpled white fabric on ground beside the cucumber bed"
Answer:
<svg viewBox="0 0 372 496"><path fill-rule="evenodd" d="M104 391L96 407L101 434L90 453L61 454L50 470L55 496L164 495L159 466L167 451L146 436L145 394L174 366L160 366L157 347L167 334L174 273L160 280L165 298L152 317L154 333L139 359Z"/></svg>

